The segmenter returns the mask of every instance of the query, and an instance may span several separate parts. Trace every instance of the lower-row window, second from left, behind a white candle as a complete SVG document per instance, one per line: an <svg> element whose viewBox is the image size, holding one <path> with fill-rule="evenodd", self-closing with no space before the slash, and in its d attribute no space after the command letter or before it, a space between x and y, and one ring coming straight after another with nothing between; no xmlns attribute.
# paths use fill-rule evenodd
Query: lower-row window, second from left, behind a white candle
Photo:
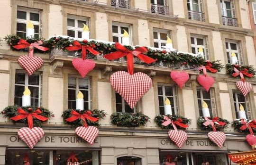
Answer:
<svg viewBox="0 0 256 165"><path fill-rule="evenodd" d="M83 94L83 108L91 109L91 81L89 78L68 78L68 108L76 108L76 96L78 91Z"/></svg>

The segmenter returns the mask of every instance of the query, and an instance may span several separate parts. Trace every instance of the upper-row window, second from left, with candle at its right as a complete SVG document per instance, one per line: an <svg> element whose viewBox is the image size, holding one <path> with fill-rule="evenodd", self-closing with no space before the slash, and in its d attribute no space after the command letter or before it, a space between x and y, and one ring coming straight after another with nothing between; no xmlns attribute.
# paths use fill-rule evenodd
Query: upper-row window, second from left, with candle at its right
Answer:
<svg viewBox="0 0 256 165"><path fill-rule="evenodd" d="M82 38L83 24L87 25L90 29L90 18L68 15L67 35L70 37Z"/></svg>

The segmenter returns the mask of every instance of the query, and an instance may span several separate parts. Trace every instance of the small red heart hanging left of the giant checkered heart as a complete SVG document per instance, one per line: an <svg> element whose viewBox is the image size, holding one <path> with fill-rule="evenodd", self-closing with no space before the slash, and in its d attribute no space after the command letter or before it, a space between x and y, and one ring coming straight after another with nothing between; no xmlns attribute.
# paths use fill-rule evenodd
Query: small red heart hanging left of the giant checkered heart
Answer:
<svg viewBox="0 0 256 165"><path fill-rule="evenodd" d="M84 78L94 67L95 63L91 59L74 58L72 61L74 68Z"/></svg>

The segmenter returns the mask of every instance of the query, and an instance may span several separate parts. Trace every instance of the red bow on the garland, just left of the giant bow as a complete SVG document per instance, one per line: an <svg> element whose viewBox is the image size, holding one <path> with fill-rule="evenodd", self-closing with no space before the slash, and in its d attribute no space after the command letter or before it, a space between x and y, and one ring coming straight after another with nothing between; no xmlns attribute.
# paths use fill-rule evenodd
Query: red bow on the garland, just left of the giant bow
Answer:
<svg viewBox="0 0 256 165"><path fill-rule="evenodd" d="M81 45L78 41L74 41L73 42L74 46L69 46L66 47L66 49L68 51L74 51L74 50L79 50L82 49L82 59L84 60L86 58L86 50L88 50L89 52L91 52L93 55L98 55L100 54L98 51L94 50L93 48L95 48L95 45Z"/></svg>

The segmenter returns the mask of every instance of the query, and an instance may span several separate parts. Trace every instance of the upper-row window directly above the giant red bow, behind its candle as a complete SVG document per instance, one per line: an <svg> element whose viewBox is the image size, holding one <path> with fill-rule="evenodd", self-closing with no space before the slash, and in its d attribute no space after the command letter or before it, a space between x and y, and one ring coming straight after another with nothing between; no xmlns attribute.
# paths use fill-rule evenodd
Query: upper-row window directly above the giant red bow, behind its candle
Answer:
<svg viewBox="0 0 256 165"><path fill-rule="evenodd" d="M129 44L131 45L132 41L131 41L130 25L116 23L116 22L113 22L113 25L112 25L113 42L123 43L122 39L123 39L124 30L127 31L129 34Z"/></svg>

